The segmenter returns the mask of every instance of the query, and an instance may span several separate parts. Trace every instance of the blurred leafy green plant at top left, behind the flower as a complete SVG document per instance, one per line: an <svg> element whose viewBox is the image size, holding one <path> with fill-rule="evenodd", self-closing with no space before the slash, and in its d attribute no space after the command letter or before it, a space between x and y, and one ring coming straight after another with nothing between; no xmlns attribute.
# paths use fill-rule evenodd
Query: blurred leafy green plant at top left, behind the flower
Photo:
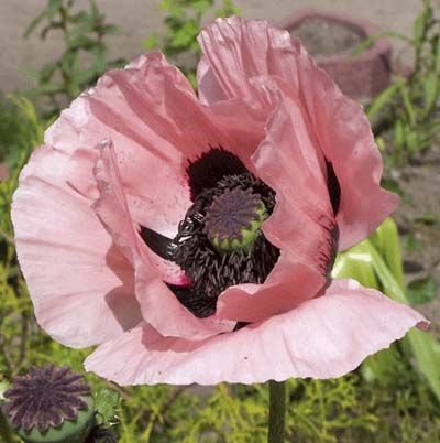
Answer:
<svg viewBox="0 0 440 443"><path fill-rule="evenodd" d="M119 32L114 24L106 22L95 0L89 10L75 9L75 0L47 0L44 10L29 24L24 36L40 29L45 40L52 31L63 35L63 54L40 71L30 71L37 87L28 91L33 97L48 97L53 111L61 109L61 100L72 100L110 67L121 66L124 61L108 60L106 37ZM87 54L87 57L84 55Z"/></svg>

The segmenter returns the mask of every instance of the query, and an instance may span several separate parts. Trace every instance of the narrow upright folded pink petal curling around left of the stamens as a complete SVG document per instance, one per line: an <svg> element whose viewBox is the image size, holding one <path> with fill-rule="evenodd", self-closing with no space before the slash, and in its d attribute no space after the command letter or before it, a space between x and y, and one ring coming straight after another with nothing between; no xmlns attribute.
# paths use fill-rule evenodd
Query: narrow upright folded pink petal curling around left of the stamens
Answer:
<svg viewBox="0 0 440 443"><path fill-rule="evenodd" d="M160 260L143 245L130 214L113 145L103 142L99 150L95 175L100 197L94 208L114 244L135 268L135 293L143 318L164 336L200 339L232 331L235 322L194 316L164 283L182 284L185 277L182 270Z"/></svg>

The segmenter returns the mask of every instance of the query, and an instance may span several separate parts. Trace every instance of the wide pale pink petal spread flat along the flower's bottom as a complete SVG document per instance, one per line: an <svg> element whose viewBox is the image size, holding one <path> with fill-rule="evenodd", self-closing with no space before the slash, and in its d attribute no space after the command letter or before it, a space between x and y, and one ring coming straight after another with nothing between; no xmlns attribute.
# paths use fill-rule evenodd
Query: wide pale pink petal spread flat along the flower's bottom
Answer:
<svg viewBox="0 0 440 443"><path fill-rule="evenodd" d="M353 280L326 295L238 332L201 342L164 338L143 325L101 345L87 370L119 385L254 383L333 378L388 347L424 317Z"/></svg>

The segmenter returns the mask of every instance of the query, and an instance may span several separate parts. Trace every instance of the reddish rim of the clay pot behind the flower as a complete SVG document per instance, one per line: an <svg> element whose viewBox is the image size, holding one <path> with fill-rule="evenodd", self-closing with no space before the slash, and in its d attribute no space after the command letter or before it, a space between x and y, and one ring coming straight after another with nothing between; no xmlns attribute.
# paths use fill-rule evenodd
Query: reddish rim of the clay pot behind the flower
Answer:
<svg viewBox="0 0 440 443"><path fill-rule="evenodd" d="M330 12L315 8L300 9L299 11L294 12L293 14L277 22L276 24L278 28L292 32L293 29L299 26L304 21L308 19L321 19L323 21L331 21L334 23L343 24L346 28L350 28L353 32L356 32L361 35L363 34L366 37L376 35L381 32L381 30L376 25L369 22L367 20L354 18L342 12ZM389 52L392 46L388 39L386 36L381 36L374 42L371 47L369 47L355 57L352 57L350 55L350 52L341 52L332 55L317 55L315 56L315 58L319 62L324 63L337 63L342 61L346 62L346 60L369 61Z"/></svg>

